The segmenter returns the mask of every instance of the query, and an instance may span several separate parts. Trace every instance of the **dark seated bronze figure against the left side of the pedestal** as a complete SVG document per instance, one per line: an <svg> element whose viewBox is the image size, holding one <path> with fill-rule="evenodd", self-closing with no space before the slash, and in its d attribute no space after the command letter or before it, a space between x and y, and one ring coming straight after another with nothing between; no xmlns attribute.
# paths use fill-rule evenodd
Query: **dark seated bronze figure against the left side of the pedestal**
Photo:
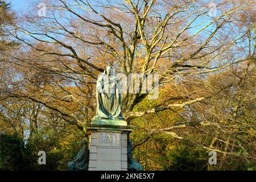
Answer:
<svg viewBox="0 0 256 182"><path fill-rule="evenodd" d="M68 163L70 171L88 171L89 166L89 149L88 142L82 140L82 148L72 162Z"/></svg>

